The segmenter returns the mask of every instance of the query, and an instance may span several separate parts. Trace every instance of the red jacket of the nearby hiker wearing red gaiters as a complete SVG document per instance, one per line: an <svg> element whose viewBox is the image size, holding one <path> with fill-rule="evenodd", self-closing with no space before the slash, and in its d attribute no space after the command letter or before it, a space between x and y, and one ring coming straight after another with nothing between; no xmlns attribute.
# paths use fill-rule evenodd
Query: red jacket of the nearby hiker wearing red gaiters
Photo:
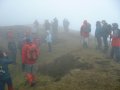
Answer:
<svg viewBox="0 0 120 90"><path fill-rule="evenodd" d="M35 50L35 55L38 57L39 56L39 49L34 43L25 43L23 48L22 48L22 63L23 64L34 64L36 63L36 59L31 59L28 57L28 53L30 52L31 49Z"/></svg>

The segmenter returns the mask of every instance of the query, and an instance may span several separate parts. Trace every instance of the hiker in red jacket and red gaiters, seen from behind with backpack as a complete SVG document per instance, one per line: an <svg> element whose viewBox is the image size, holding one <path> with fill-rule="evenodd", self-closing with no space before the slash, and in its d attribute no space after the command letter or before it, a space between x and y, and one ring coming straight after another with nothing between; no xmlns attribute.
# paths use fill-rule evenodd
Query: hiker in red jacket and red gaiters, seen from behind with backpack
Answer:
<svg viewBox="0 0 120 90"><path fill-rule="evenodd" d="M29 38L22 48L22 63L25 65L25 77L30 86L35 84L35 63L38 59L39 52L36 44Z"/></svg>

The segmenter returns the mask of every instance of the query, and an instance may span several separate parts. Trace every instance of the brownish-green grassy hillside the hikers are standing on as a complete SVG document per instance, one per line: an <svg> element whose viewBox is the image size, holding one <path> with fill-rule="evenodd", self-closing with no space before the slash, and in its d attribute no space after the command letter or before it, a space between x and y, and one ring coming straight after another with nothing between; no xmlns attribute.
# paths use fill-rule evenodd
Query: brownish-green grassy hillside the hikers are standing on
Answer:
<svg viewBox="0 0 120 90"><path fill-rule="evenodd" d="M95 50L93 39L89 46L82 48L79 32L60 32L51 53L43 43L34 87L25 84L18 54L10 66L15 90L120 90L120 65Z"/></svg>

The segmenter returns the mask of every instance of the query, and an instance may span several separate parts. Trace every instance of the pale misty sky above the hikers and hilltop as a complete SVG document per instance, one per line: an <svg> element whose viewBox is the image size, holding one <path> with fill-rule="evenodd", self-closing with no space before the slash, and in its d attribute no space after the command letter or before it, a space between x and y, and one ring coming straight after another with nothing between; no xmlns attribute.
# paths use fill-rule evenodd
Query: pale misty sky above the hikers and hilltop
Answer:
<svg viewBox="0 0 120 90"><path fill-rule="evenodd" d="M37 19L57 17L60 25L67 18L79 30L84 19L92 28L97 20L120 22L120 0L0 0L0 26L32 24Z"/></svg>

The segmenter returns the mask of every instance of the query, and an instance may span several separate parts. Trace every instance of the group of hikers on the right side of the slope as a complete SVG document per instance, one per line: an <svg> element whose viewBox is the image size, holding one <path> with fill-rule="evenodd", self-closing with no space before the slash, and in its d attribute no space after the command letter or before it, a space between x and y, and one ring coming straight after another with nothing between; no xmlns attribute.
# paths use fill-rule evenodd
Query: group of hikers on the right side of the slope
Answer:
<svg viewBox="0 0 120 90"><path fill-rule="evenodd" d="M81 42L84 48L88 48L88 41L91 32L91 24L84 20L80 28ZM108 24L105 20L96 22L95 38L97 50L109 53L110 58L120 62L120 29L117 23Z"/></svg>

